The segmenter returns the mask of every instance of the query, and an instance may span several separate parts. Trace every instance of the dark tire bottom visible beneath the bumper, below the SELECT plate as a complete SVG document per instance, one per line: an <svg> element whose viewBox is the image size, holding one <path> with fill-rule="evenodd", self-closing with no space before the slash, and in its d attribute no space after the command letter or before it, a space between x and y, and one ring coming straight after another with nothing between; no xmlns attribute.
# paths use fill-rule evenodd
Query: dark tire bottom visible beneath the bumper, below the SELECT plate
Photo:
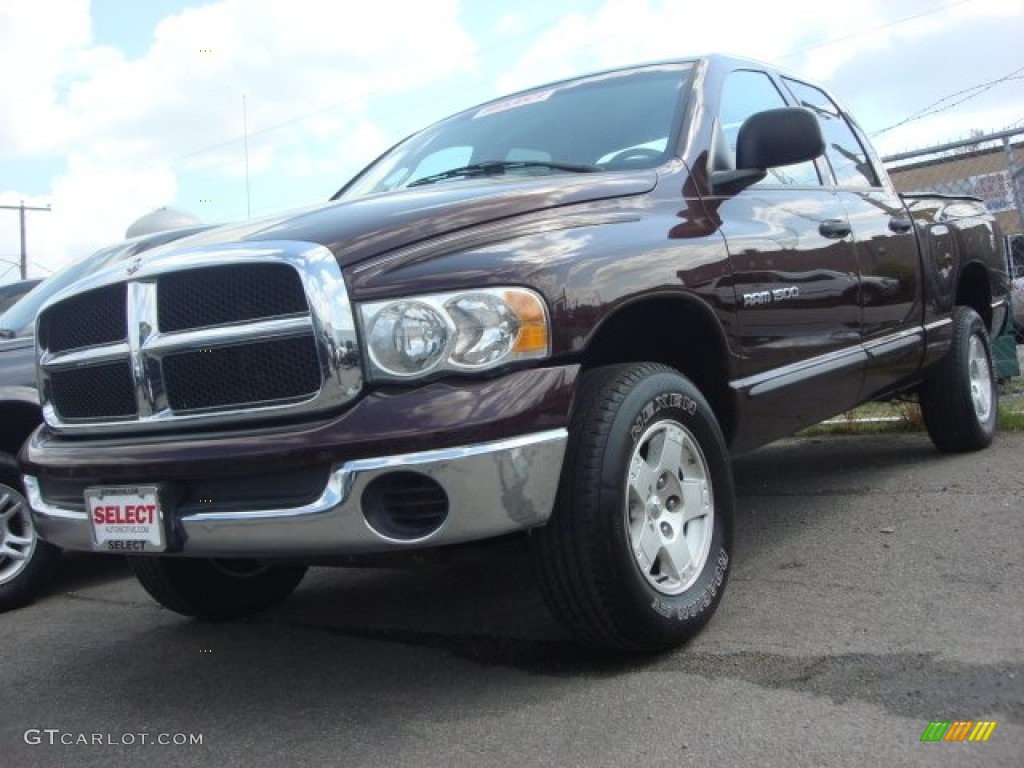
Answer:
<svg viewBox="0 0 1024 768"><path fill-rule="evenodd" d="M240 618L284 601L306 568L251 560L129 557L135 578L161 605L209 621Z"/></svg>

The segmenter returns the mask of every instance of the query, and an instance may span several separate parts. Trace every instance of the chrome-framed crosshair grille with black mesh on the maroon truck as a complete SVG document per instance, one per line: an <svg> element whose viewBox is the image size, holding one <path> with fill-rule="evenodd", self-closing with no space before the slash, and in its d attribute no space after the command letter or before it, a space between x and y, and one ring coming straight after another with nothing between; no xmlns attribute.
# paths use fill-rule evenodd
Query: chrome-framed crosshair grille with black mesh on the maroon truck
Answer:
<svg viewBox="0 0 1024 768"><path fill-rule="evenodd" d="M337 262L308 243L120 266L44 307L38 331L43 414L69 432L319 413L362 384Z"/></svg>

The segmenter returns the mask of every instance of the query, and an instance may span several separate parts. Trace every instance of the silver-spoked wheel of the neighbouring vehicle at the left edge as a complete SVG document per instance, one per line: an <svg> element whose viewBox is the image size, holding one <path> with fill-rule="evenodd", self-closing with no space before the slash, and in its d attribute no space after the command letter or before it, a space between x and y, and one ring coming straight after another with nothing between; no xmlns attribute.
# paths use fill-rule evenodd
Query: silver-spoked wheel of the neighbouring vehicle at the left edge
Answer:
<svg viewBox="0 0 1024 768"><path fill-rule="evenodd" d="M36 532L17 465L0 456L0 611L31 602L59 562L60 550Z"/></svg>

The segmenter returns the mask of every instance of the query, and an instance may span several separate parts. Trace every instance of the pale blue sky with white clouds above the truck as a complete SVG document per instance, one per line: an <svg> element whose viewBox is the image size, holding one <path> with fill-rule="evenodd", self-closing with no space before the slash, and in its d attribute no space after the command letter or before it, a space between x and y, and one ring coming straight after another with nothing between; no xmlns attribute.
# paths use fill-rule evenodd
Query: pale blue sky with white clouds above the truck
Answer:
<svg viewBox="0 0 1024 768"><path fill-rule="evenodd" d="M161 206L227 221L325 200L406 134L561 77L751 55L874 133L1024 68L1021 40L1024 0L0 0L0 204L52 206L28 222L44 275ZM1010 125L1019 77L877 143ZM0 283L17 251L0 211Z"/></svg>

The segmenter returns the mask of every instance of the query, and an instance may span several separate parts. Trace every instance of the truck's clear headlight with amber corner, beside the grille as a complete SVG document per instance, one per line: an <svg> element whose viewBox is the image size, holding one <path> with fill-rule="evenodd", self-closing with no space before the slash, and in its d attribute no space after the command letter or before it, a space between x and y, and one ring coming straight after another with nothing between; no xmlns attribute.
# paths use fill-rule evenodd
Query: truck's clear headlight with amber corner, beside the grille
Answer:
<svg viewBox="0 0 1024 768"><path fill-rule="evenodd" d="M549 353L544 301L523 288L378 301L359 312L376 380L485 371Z"/></svg>

